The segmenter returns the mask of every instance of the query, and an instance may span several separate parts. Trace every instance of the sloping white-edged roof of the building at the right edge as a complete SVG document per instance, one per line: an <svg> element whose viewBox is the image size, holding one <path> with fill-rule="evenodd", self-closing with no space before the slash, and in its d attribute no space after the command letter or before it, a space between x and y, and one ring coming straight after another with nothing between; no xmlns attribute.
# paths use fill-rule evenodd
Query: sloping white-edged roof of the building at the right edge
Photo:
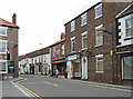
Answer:
<svg viewBox="0 0 133 99"><path fill-rule="evenodd" d="M129 13L133 13L133 2L131 2L131 4L127 6L123 11L121 11L115 18L121 18Z"/></svg>

